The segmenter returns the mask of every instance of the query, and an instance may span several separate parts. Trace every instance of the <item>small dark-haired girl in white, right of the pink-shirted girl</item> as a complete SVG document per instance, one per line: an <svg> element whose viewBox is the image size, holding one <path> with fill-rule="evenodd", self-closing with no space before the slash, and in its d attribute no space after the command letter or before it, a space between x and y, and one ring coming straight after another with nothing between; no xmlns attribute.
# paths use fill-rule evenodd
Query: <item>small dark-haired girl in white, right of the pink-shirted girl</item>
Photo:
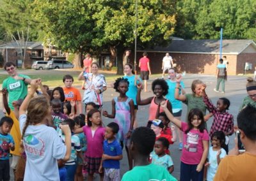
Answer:
<svg viewBox="0 0 256 181"><path fill-rule="evenodd" d="M208 161L205 163L207 167L207 181L212 181L218 169L221 159L225 157L225 134L222 131L216 131L211 136L212 147L209 148Z"/></svg>

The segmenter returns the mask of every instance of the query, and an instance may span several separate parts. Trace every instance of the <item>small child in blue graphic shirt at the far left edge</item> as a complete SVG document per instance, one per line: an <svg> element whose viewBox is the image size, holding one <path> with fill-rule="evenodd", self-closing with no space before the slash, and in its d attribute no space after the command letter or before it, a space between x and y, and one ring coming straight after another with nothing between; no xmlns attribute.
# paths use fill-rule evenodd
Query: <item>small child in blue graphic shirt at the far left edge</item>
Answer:
<svg viewBox="0 0 256 181"><path fill-rule="evenodd" d="M0 120L0 180L10 180L10 150L14 150L14 141L9 134L13 120L10 117L2 117Z"/></svg>

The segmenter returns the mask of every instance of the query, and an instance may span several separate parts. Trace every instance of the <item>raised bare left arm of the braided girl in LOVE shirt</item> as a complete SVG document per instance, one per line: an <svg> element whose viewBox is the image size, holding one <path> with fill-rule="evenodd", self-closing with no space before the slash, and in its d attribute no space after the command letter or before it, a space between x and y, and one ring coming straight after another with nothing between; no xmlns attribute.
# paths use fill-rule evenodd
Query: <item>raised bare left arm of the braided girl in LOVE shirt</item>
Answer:
<svg viewBox="0 0 256 181"><path fill-rule="evenodd" d="M40 82L41 82L40 78L31 80L30 91L28 92L28 95L24 99L23 103L20 105L19 115L26 113L28 104L30 100L33 98Z"/></svg>

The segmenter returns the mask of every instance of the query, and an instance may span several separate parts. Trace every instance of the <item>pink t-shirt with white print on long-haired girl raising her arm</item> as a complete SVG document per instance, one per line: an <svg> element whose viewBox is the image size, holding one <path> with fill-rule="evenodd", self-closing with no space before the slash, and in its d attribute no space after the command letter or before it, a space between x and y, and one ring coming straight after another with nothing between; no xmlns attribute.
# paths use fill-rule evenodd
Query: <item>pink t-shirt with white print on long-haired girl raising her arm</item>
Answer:
<svg viewBox="0 0 256 181"><path fill-rule="evenodd" d="M204 147L203 141L209 141L207 130L201 133L199 130L191 129L187 134L188 123L181 122L181 131L183 132L183 149L180 160L186 164L198 164L202 158Z"/></svg>

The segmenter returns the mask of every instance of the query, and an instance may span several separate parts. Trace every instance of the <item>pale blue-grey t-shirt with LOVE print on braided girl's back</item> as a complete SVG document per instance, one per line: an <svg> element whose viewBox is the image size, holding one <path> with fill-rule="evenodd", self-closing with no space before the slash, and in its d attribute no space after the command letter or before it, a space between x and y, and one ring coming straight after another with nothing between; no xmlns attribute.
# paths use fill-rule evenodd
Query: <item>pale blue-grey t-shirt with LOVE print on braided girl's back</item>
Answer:
<svg viewBox="0 0 256 181"><path fill-rule="evenodd" d="M26 119L26 114L20 115L20 130ZM23 144L27 156L24 180L60 180L57 159L65 157L67 148L55 129L45 124L30 125L24 134Z"/></svg>

